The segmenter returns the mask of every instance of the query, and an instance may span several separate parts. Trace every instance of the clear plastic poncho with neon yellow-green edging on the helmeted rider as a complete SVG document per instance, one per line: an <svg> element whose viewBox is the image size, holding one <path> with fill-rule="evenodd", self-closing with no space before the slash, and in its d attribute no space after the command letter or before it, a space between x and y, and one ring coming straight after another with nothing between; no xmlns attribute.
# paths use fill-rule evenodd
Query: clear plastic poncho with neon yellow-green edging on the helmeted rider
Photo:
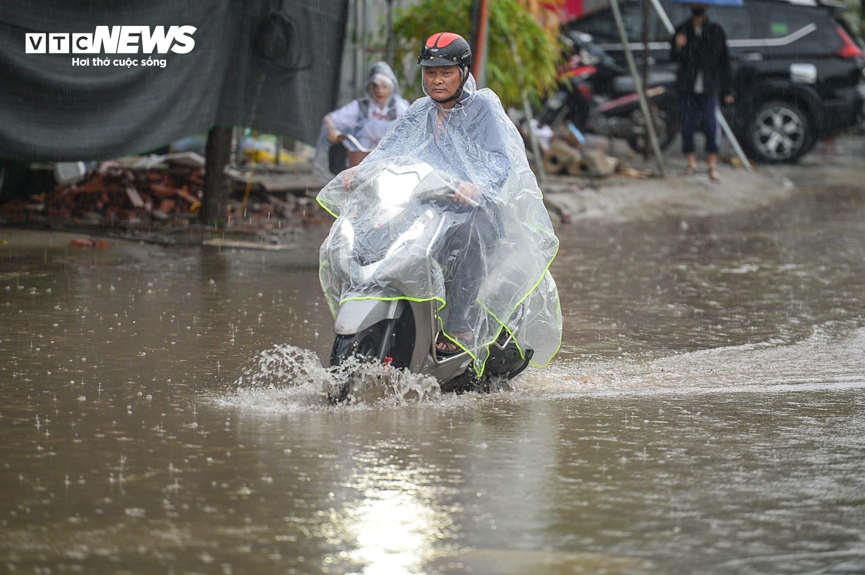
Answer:
<svg viewBox="0 0 865 575"><path fill-rule="evenodd" d="M466 183L480 188L472 205L454 201ZM452 110L415 101L317 201L336 217L320 254L335 316L351 299L432 300L478 375L505 332L521 351L534 349L539 367L558 351L561 309L549 266L559 240L522 137L497 95L478 91L471 76Z"/></svg>

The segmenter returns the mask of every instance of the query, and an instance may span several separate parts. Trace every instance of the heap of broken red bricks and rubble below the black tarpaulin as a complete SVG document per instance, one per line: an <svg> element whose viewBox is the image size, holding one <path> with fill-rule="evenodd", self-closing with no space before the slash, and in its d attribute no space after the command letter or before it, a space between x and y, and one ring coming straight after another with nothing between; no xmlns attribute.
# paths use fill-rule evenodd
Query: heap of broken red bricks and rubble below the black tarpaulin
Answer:
<svg viewBox="0 0 865 575"><path fill-rule="evenodd" d="M178 227L198 218L204 158L195 152L125 157L95 164L83 181L0 205L8 223L62 221L88 227ZM226 169L232 182L225 224L259 229L317 223L311 195L325 182L306 173L252 166ZM287 221L286 221L287 220ZM321 219L330 221L332 218ZM87 248L93 246L77 246Z"/></svg>

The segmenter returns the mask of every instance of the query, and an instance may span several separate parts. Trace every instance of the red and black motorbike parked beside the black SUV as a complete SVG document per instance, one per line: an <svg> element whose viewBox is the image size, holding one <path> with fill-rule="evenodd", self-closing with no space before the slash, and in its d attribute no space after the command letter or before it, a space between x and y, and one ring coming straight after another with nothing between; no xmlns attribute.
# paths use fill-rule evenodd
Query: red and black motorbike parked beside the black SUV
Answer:
<svg viewBox="0 0 865 575"><path fill-rule="evenodd" d="M646 122L630 74L589 35L571 33L566 43L570 56L559 72L559 88L544 102L541 124L555 129L571 122L581 131L622 138L633 150L647 150ZM650 71L645 87L662 150L678 131L675 81L674 73Z"/></svg>

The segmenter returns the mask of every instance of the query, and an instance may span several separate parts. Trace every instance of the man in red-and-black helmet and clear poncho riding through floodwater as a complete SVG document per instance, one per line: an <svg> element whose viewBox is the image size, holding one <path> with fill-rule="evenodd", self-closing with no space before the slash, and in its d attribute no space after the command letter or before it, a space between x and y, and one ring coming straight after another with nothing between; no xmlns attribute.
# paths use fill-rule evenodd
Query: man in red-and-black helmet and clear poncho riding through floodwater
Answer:
<svg viewBox="0 0 865 575"><path fill-rule="evenodd" d="M458 191L453 201L437 204L446 221L434 254L439 279L419 278L413 293L400 296L441 303L439 316L446 320L437 348L468 352L478 375L489 345L504 330L521 349L534 350L535 365L545 366L561 345L559 297L549 273L559 241L522 137L497 95L477 90L469 72L471 48L462 36L430 36L418 63L426 98L416 100L378 147L334 178L317 201L335 217L350 208L351 217L361 220L363 206L356 205L353 189L388 165L422 162L450 176ZM331 310L347 299L386 299L376 294L387 285L351 284L327 265L342 241L337 227L321 250L321 281ZM387 298L394 297L399 298Z"/></svg>

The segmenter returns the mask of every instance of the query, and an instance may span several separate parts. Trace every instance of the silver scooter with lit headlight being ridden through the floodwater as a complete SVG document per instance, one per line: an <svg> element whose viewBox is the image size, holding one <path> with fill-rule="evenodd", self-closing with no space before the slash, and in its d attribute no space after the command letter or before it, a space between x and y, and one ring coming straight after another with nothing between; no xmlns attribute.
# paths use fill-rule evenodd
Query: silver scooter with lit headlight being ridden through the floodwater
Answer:
<svg viewBox="0 0 865 575"><path fill-rule="evenodd" d="M416 291L418 282L432 284L436 247L446 232L445 214L432 204L450 203L455 182L426 163L416 163L389 165L360 185L368 187L363 188L362 217L343 212L330 231L331 237L338 234L338 238L329 238L322 250L322 265L329 265L343 284L365 296L339 303L330 366L360 356L432 375L442 392L456 393L489 391L493 381L522 373L533 350L525 348L521 354L507 330L490 343L490 356L479 378L465 350L443 354L436 348L448 307L439 310L441 304L435 299L403 298ZM522 313L520 307L515 315ZM348 378L331 387L330 400L345 402L351 391Z"/></svg>

